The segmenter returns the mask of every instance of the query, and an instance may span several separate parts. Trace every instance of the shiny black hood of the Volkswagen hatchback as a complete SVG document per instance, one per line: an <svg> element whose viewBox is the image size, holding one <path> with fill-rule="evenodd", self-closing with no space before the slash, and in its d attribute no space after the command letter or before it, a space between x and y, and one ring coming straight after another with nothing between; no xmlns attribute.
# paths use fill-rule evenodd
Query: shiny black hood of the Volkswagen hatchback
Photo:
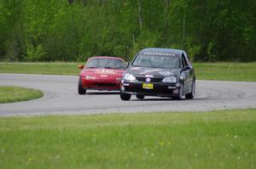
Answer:
<svg viewBox="0 0 256 169"><path fill-rule="evenodd" d="M148 67L135 67L131 66L128 73L137 77L166 77L166 76L178 76L181 69L162 69L162 68L148 68Z"/></svg>

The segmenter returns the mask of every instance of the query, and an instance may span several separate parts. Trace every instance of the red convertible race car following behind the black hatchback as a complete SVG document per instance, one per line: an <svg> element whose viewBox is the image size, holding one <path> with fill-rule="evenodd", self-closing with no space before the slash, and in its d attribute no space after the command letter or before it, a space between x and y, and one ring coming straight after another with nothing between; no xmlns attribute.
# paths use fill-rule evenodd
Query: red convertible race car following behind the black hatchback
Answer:
<svg viewBox="0 0 256 169"><path fill-rule="evenodd" d="M87 89L119 91L125 73L124 60L108 56L91 57L79 69L79 94L85 94Z"/></svg>

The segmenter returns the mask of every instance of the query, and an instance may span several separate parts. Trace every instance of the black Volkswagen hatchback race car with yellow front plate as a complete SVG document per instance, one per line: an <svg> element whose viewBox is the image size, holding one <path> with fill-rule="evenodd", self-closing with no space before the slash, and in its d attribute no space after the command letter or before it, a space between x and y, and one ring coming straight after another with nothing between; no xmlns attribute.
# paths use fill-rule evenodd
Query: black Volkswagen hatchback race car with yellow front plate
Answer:
<svg viewBox="0 0 256 169"><path fill-rule="evenodd" d="M183 50L145 48L137 53L122 78L120 98L144 96L193 99L195 70Z"/></svg>

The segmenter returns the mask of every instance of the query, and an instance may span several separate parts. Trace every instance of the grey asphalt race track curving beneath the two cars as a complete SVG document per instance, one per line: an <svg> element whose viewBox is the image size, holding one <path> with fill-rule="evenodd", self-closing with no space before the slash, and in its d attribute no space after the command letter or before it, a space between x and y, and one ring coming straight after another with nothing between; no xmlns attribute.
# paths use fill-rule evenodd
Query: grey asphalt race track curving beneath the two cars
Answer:
<svg viewBox="0 0 256 169"><path fill-rule="evenodd" d="M39 89L44 97L0 104L0 115L73 115L155 111L201 111L256 108L256 82L196 81L195 99L172 100L131 97L119 99L118 92L77 92L78 76L0 74L0 86Z"/></svg>

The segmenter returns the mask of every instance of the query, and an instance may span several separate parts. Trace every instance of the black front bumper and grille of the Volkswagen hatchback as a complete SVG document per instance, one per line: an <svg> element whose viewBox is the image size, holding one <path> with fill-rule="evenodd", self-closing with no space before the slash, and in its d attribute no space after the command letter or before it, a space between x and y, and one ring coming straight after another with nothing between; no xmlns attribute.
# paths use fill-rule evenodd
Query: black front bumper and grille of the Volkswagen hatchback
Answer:
<svg viewBox="0 0 256 169"><path fill-rule="evenodd" d="M153 82L152 89L143 88L143 83L137 81L124 81L121 83L120 92L132 95L174 97L178 94L179 83Z"/></svg>

